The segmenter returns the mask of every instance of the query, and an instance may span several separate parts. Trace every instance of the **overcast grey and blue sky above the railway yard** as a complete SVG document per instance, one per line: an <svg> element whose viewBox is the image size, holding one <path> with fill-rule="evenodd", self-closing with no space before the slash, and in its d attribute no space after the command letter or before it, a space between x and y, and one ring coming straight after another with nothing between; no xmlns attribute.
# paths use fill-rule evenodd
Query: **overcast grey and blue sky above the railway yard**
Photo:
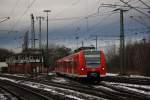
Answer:
<svg viewBox="0 0 150 100"><path fill-rule="evenodd" d="M125 34L127 38L143 38L148 35L150 26L150 0L124 0L144 14L129 9L124 13ZM63 44L71 48L76 47L75 37L79 36L79 44L94 45L94 35L100 35L99 46L109 44L106 37L119 36L119 12L116 8L102 7L101 4L124 5L120 0L0 0L0 21L5 17L10 19L0 23L0 47L18 50L21 47L21 36L31 30L30 14L46 16L45 9L49 13L49 42ZM98 13L99 8L99 13ZM130 16L134 16L131 19ZM135 20L136 19L136 20ZM38 38L38 21L35 18L36 37ZM17 32L16 32L17 31ZM138 33L135 35L135 33ZM42 21L43 44L46 39L46 19ZM109 38L110 39L110 38ZM111 38L114 39L114 38ZM105 41L104 41L105 40ZM108 40L108 39L107 39ZM111 41L112 42L112 41Z"/></svg>

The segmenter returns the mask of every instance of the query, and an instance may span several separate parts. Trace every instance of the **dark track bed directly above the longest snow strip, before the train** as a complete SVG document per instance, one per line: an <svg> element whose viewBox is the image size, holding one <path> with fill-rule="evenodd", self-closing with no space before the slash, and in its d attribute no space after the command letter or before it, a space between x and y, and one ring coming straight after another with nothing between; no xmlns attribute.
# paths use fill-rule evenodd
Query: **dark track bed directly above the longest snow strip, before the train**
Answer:
<svg viewBox="0 0 150 100"><path fill-rule="evenodd" d="M52 82L50 80L44 81L44 80L32 80L32 79L30 79L30 81L44 84L44 85L48 85L48 86L57 87L57 88L63 88L63 89L78 91L80 93L85 93L85 94L89 94L91 96L101 97L104 99L127 100L126 97L119 96L113 91L109 91L107 89L99 90L99 89L95 89L91 86L83 85L83 84L73 82L73 81L71 84L56 83L56 82Z"/></svg>

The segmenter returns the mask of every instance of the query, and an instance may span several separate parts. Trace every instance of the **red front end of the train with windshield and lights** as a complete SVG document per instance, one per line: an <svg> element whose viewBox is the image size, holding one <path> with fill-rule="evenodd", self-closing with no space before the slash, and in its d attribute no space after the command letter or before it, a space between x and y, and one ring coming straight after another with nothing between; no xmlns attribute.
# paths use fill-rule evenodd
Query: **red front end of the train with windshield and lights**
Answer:
<svg viewBox="0 0 150 100"><path fill-rule="evenodd" d="M92 80L104 77L106 75L106 60L103 51L82 51L80 74Z"/></svg>

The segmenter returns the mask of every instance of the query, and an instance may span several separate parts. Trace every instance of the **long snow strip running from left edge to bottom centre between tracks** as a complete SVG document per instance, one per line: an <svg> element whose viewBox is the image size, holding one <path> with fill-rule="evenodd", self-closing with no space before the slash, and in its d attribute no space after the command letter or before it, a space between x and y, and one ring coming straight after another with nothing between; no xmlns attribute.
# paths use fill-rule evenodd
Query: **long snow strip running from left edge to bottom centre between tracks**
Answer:
<svg viewBox="0 0 150 100"><path fill-rule="evenodd" d="M9 79L9 78L4 78L4 77L0 77L0 79L11 81L11 82L14 82L14 83L17 83L17 84L27 85L27 86L30 86L32 88L45 90L45 91L51 92L53 94L68 97L70 99L76 99L76 100L87 100L87 99L88 100L107 100L107 99L104 99L104 98L101 98L101 97L91 96L91 95L88 95L88 94L85 94L85 93L80 93L78 91L74 91L74 90L70 90L70 89L53 87L53 86L44 85L44 84L35 83L35 82L30 82L30 81L16 81L14 79Z"/></svg>

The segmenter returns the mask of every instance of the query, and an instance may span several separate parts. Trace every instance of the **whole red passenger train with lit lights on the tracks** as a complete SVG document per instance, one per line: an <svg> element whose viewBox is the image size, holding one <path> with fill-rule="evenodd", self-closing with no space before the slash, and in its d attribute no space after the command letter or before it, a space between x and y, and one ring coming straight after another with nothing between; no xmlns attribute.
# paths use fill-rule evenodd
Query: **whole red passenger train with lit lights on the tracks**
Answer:
<svg viewBox="0 0 150 100"><path fill-rule="evenodd" d="M104 51L80 50L58 59L55 72L76 79L100 81L107 72Z"/></svg>

